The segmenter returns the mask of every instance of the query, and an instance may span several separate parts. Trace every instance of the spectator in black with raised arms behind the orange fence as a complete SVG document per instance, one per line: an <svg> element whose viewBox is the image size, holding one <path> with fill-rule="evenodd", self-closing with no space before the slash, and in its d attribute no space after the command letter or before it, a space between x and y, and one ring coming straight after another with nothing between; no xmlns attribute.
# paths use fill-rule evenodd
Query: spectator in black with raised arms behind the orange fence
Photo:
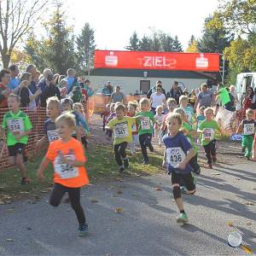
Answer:
<svg viewBox="0 0 256 256"><path fill-rule="evenodd" d="M50 73L45 82L47 85L42 91L40 106L46 108L46 101L49 97L56 96L61 100L61 91L55 86L55 77Z"/></svg>

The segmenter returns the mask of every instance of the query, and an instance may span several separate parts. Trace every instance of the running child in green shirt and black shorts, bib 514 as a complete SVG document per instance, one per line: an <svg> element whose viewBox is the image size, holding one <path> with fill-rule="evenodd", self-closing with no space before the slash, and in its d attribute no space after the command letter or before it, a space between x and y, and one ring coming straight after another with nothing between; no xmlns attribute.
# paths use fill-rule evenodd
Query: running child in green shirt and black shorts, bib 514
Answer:
<svg viewBox="0 0 256 256"><path fill-rule="evenodd" d="M7 99L9 112L3 116L0 132L0 150L3 147L3 138L7 129L7 146L9 151L9 163L20 170L21 184L28 184L30 178L26 177L22 153L28 141L28 135L32 130L32 123L26 113L20 111L20 97L14 94Z"/></svg>

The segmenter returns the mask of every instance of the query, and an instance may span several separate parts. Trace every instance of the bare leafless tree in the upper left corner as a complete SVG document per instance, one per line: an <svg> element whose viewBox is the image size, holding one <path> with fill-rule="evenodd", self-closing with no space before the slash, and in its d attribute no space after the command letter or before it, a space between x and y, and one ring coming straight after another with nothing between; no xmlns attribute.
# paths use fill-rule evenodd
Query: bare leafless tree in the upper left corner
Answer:
<svg viewBox="0 0 256 256"><path fill-rule="evenodd" d="M44 13L48 0L0 1L0 53L3 67L9 67L15 45Z"/></svg>

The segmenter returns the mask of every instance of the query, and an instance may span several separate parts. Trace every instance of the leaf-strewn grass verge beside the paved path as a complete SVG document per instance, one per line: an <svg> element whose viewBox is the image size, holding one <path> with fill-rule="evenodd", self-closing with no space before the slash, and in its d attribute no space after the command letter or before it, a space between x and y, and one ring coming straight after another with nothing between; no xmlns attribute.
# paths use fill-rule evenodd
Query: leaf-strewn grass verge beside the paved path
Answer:
<svg viewBox="0 0 256 256"><path fill-rule="evenodd" d="M128 152L128 150L127 150ZM45 153L45 152L44 152ZM49 166L45 170L45 182L40 183L36 177L38 166L44 157L44 153L32 157L26 164L28 177L32 183L20 184L20 172L16 168L10 168L0 172L0 204L10 203L17 198L27 198L32 203L40 199L40 195L48 193L53 183L53 168ZM160 152L149 154L150 165L143 166L142 154L137 153L130 156L129 171L119 174L118 166L114 160L113 147L108 145L94 145L86 152L86 170L90 177L90 183L106 179L122 179L124 176L137 177L141 175L154 174L161 171L162 155Z"/></svg>

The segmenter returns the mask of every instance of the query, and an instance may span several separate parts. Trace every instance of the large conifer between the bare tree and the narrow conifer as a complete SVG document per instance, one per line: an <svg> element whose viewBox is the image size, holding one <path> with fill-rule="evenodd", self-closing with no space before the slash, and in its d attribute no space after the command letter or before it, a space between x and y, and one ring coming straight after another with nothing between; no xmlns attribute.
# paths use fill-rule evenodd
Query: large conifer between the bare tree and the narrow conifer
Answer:
<svg viewBox="0 0 256 256"><path fill-rule="evenodd" d="M30 38L26 42L26 52L41 71L51 67L56 73L65 74L68 68L77 68L73 27L67 26L66 17L61 3L57 2L49 21L43 24L47 37Z"/></svg>

